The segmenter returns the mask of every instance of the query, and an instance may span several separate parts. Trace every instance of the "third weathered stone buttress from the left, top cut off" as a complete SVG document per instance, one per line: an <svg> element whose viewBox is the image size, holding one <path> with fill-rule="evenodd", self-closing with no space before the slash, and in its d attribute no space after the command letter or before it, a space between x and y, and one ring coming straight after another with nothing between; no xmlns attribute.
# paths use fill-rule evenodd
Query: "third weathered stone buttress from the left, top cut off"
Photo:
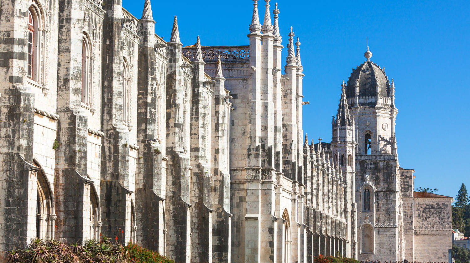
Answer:
<svg viewBox="0 0 470 263"><path fill-rule="evenodd" d="M106 1L103 9L107 15L103 23L102 233L125 243L133 239L136 223L133 204L135 170L131 169L135 165L135 157L131 157L131 153L135 153L131 148L135 129L131 130L136 125L133 123L136 118L130 118L128 112L130 101L136 98L129 98L132 94L135 96L129 89L132 91L135 85L133 59L138 45L135 40L128 39L127 30L136 29L137 19L124 12L120 0ZM138 39L137 35L135 37Z"/></svg>

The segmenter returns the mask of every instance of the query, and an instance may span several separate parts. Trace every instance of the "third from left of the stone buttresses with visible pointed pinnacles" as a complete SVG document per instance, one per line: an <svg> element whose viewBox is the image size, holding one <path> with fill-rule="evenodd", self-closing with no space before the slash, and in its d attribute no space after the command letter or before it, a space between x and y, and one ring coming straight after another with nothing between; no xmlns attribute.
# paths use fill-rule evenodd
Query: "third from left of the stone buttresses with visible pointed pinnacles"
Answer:
<svg viewBox="0 0 470 263"><path fill-rule="evenodd" d="M204 76L199 37L192 68L190 108L191 182L189 187L191 208L191 262L212 262L211 209L211 104L210 81ZM182 65L186 66L186 65Z"/></svg>

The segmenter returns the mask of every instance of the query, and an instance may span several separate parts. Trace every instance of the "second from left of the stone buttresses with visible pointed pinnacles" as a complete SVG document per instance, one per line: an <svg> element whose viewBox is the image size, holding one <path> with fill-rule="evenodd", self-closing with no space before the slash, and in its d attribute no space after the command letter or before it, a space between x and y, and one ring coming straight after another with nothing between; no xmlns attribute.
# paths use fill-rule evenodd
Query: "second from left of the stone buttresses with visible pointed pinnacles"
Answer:
<svg viewBox="0 0 470 263"><path fill-rule="evenodd" d="M189 126L191 110L190 63L181 55L176 16L166 56L166 229L167 255L177 263L189 262L190 178ZM183 66L184 65L184 66Z"/></svg>

